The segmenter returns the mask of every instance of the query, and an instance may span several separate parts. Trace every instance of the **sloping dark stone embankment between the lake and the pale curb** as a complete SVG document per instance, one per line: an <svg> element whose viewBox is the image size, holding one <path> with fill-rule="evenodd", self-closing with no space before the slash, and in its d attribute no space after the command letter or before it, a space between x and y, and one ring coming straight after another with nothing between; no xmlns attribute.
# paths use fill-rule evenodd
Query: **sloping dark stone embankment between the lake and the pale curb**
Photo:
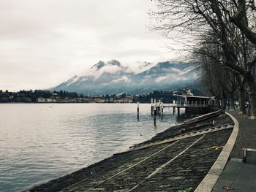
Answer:
<svg viewBox="0 0 256 192"><path fill-rule="evenodd" d="M30 191L195 191L233 131L227 115L216 115L167 128L127 151Z"/></svg>

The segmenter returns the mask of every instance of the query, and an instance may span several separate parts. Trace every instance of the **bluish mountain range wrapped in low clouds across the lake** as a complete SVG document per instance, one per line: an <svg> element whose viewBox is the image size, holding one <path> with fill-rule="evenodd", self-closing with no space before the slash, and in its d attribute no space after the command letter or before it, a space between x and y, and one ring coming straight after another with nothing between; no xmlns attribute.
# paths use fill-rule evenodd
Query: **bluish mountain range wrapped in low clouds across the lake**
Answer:
<svg viewBox="0 0 256 192"><path fill-rule="evenodd" d="M51 90L86 94L136 94L195 86L198 79L195 65L184 62L138 62L134 68L116 60L99 61L86 73L75 75Z"/></svg>

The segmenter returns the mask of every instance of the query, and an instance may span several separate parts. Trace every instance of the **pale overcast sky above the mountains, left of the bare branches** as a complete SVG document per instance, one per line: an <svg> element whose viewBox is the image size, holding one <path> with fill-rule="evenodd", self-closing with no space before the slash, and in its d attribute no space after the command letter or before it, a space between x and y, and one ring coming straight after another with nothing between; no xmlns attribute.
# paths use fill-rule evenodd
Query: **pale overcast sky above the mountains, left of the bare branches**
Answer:
<svg viewBox="0 0 256 192"><path fill-rule="evenodd" d="M99 60L165 61L150 0L0 0L0 89L44 89Z"/></svg>

